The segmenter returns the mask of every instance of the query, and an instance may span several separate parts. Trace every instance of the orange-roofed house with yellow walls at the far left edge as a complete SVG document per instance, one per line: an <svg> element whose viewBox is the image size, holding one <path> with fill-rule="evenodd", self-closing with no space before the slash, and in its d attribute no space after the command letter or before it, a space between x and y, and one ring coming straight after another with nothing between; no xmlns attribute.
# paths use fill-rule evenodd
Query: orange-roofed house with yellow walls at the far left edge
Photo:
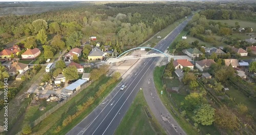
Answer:
<svg viewBox="0 0 256 135"><path fill-rule="evenodd" d="M11 48L8 49L4 49L3 51L0 52L0 57L1 58L10 58L11 54L13 54L14 56L17 56L18 53L20 52L20 48L17 45L14 45Z"/></svg>

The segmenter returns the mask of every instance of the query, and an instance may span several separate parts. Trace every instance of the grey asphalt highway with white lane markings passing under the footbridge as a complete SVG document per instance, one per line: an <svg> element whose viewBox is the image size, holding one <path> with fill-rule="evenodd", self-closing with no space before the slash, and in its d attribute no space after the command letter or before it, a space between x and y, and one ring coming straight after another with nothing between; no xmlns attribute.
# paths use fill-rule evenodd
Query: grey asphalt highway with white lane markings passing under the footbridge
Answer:
<svg viewBox="0 0 256 135"><path fill-rule="evenodd" d="M162 39L155 48L160 51L166 50L170 42L172 42L185 27L186 23L187 21L183 21L172 33L165 39ZM153 50L150 53L156 53L156 51ZM113 89L111 94L106 97L88 117L84 118L67 134L114 134L126 111L140 91L140 87L142 87L146 79L145 77L148 73L152 74L158 60L159 58L157 57L139 60L139 63L135 64L131 74L123 78L118 86ZM124 91L120 91L120 86L123 84L126 85L126 88ZM176 128L176 130L182 132L182 129L179 127ZM172 134L178 134L175 128L173 128L171 132Z"/></svg>

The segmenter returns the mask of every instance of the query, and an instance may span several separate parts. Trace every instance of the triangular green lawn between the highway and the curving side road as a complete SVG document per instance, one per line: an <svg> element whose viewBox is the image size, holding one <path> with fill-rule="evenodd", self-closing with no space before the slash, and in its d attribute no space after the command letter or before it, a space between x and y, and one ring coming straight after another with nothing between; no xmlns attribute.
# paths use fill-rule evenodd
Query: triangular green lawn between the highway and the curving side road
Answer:
<svg viewBox="0 0 256 135"><path fill-rule="evenodd" d="M145 106L149 108L143 93L138 93L114 134L166 134L154 116L147 117Z"/></svg>

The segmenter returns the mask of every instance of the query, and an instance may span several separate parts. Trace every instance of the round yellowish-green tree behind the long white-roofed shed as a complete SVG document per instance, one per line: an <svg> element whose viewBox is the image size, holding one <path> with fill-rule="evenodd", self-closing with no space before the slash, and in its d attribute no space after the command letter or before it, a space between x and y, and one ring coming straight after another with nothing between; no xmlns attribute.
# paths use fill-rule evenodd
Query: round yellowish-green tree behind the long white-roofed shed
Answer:
<svg viewBox="0 0 256 135"><path fill-rule="evenodd" d="M78 79L78 72L75 65L68 66L68 68L64 69L63 75L66 77L66 80L74 80Z"/></svg>

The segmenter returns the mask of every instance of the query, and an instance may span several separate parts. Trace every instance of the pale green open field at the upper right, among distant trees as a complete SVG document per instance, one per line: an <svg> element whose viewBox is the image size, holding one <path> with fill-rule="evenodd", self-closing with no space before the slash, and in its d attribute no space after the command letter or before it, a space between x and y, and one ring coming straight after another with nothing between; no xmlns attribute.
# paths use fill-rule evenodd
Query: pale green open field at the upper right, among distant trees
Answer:
<svg viewBox="0 0 256 135"><path fill-rule="evenodd" d="M211 20L211 19L208 19ZM253 29L253 31L256 31L256 22L252 22L252 21L244 21L244 20L212 20L215 22L222 22L222 23L227 23L229 26L234 26L234 23L237 21L239 22L239 25L241 28L245 28L245 27L251 27Z"/></svg>

